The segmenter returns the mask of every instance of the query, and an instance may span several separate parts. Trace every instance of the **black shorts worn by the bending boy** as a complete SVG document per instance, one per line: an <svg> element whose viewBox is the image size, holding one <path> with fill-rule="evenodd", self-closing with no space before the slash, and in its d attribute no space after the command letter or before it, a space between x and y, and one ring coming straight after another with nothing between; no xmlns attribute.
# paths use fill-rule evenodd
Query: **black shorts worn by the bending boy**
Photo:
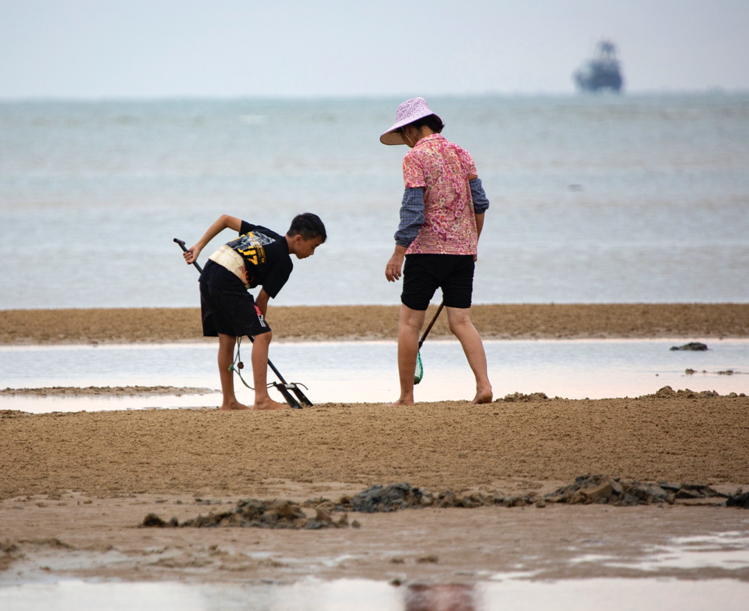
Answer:
<svg viewBox="0 0 749 611"><path fill-rule="evenodd" d="M205 337L217 337L219 333L241 337L270 331L255 298L244 289L227 291L201 282L200 313Z"/></svg>

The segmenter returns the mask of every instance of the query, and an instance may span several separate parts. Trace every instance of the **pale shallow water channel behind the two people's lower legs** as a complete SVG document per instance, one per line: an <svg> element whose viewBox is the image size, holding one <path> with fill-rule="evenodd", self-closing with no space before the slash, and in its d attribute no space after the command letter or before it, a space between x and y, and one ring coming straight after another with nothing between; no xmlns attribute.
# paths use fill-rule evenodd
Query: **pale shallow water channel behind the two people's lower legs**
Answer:
<svg viewBox="0 0 749 611"><path fill-rule="evenodd" d="M485 349L495 397L512 392L545 392L565 398L634 397L662 386L715 390L721 395L749 393L749 340L703 341L710 350L670 350L684 340L486 341ZM398 395L396 350L392 341L279 342L271 347L270 357L287 380L309 387L307 395L314 403L380 402ZM248 346L243 352L248 367L249 356ZM417 401L473 397L473 376L457 341L428 342L422 348L422 359L425 375L416 387ZM218 389L214 344L1 347L0 372L0 388L161 385ZM235 380L240 401L251 402L252 391ZM217 392L181 397L0 398L3 409L32 413L216 407L219 403Z"/></svg>

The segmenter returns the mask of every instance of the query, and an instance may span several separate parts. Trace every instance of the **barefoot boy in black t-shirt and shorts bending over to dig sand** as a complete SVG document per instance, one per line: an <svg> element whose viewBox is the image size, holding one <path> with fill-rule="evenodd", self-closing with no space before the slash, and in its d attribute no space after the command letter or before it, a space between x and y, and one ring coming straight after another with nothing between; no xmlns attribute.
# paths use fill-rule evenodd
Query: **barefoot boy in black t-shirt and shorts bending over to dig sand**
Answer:
<svg viewBox="0 0 749 611"><path fill-rule="evenodd" d="M249 410L234 395L234 377L229 366L234 362L237 337L255 338L252 344L252 378L255 382L255 410L281 410L288 405L268 395L268 345L273 332L265 315L268 300L275 298L286 284L294 264L291 255L305 259L315 254L327 234L320 217L299 214L291 221L285 236L261 225L222 215L210 225L195 246L184 253L192 264L204 246L225 228L239 232L208 258L200 276L200 309L203 335L219 338L219 376L223 395L222 410ZM248 291L262 287L255 300Z"/></svg>

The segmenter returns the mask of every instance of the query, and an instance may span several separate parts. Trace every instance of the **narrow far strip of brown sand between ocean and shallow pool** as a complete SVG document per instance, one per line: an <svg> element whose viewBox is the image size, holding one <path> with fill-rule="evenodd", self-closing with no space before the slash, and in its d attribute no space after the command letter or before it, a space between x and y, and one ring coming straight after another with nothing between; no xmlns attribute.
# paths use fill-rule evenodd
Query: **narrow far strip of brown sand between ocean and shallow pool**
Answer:
<svg viewBox="0 0 749 611"><path fill-rule="evenodd" d="M399 306L274 307L276 340L393 339ZM427 317L431 318L434 307ZM485 338L745 338L749 304L477 305ZM432 337L449 331L443 314ZM197 341L198 308L0 310L0 344Z"/></svg>

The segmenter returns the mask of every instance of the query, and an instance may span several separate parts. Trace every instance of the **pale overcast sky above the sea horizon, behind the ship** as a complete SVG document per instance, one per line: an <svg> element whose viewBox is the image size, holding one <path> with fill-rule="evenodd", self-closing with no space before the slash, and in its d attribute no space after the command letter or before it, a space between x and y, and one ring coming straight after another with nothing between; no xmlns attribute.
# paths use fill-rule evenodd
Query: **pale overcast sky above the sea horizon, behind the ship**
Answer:
<svg viewBox="0 0 749 611"><path fill-rule="evenodd" d="M749 91L749 0L0 0L0 98Z"/></svg>

